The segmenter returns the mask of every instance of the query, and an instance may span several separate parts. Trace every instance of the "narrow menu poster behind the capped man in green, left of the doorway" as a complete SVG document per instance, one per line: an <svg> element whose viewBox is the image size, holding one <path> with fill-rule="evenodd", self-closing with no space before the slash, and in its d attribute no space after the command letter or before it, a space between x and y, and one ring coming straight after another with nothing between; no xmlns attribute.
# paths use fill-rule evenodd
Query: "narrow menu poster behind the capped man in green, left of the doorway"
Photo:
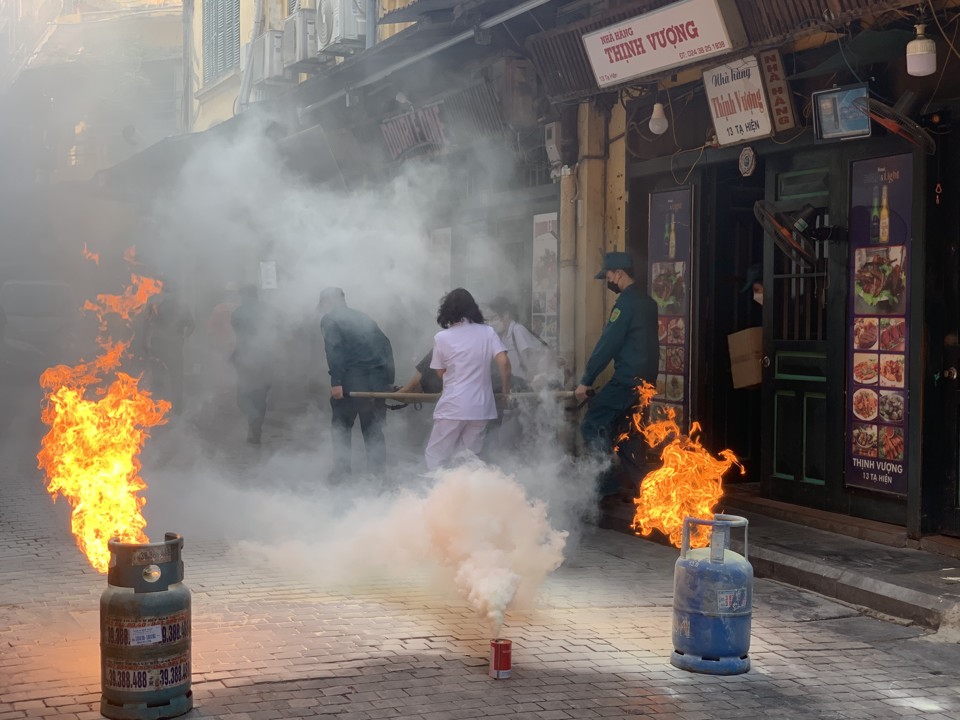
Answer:
<svg viewBox="0 0 960 720"><path fill-rule="evenodd" d="M660 340L657 394L651 403L651 418L661 419L671 408L681 429L686 426L689 406L692 216L690 188L650 194L648 287L657 303Z"/></svg>

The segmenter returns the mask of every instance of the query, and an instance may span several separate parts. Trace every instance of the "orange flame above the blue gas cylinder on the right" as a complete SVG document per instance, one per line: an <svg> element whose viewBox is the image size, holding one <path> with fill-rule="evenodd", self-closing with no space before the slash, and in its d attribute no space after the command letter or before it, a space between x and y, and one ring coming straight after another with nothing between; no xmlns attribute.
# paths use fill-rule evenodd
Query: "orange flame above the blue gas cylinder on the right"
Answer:
<svg viewBox="0 0 960 720"><path fill-rule="evenodd" d="M689 435L684 435L676 423L676 413L667 407L665 417L643 422L643 411L656 395L656 388L644 383L632 416L631 429L617 439L620 443L633 433L643 435L647 445L657 447L666 443L661 452L662 465L648 473L640 483L640 494L633 501L637 506L633 529L638 535L649 536L654 530L666 535L671 544L680 547L683 518L713 519L713 509L723 495L723 474L732 465L745 472L732 450L721 450L714 458L697 440L700 424L693 423ZM691 534L691 547L705 547L709 533Z"/></svg>

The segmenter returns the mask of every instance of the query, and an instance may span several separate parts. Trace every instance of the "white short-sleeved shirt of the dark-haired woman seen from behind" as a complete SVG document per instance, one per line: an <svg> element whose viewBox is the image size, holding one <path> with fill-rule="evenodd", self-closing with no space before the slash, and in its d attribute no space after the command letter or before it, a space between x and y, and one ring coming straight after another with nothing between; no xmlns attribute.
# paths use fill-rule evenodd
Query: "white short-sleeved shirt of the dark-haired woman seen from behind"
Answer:
<svg viewBox="0 0 960 720"><path fill-rule="evenodd" d="M433 338L430 367L443 370L443 394L433 417L441 420L493 420L490 363L506 348L489 325L463 320Z"/></svg>

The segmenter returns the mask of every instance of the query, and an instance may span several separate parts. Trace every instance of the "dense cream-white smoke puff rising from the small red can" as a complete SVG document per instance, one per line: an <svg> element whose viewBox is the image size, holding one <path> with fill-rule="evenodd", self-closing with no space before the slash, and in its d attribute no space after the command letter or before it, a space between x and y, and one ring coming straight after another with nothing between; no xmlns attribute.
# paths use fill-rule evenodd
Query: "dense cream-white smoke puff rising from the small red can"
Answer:
<svg viewBox="0 0 960 720"><path fill-rule="evenodd" d="M551 527L540 500L497 468L468 463L436 474L420 492L401 491L323 522L322 540L242 542L273 568L321 577L329 586L424 577L455 587L499 634L504 613L529 607L563 562L567 532Z"/></svg>

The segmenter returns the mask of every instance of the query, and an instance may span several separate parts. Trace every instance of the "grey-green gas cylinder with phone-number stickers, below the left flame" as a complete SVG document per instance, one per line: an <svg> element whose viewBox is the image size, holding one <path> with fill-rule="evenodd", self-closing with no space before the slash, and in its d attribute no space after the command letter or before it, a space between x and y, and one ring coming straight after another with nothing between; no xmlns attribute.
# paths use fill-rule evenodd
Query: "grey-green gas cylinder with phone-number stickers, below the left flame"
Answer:
<svg viewBox="0 0 960 720"><path fill-rule="evenodd" d="M113 720L160 720L193 707L190 590L183 538L127 544L110 540L108 587L100 596L100 713Z"/></svg>

